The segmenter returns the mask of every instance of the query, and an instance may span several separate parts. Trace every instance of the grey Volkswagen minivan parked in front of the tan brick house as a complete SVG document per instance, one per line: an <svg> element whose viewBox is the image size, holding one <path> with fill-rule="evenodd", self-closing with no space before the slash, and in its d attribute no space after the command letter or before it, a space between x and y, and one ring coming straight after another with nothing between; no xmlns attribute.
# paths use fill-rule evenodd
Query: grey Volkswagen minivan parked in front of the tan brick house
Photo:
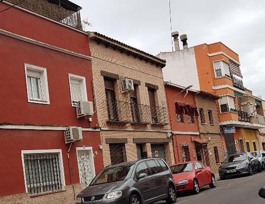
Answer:
<svg viewBox="0 0 265 204"><path fill-rule="evenodd" d="M76 199L77 204L176 202L176 188L163 159L140 159L103 169Z"/></svg>

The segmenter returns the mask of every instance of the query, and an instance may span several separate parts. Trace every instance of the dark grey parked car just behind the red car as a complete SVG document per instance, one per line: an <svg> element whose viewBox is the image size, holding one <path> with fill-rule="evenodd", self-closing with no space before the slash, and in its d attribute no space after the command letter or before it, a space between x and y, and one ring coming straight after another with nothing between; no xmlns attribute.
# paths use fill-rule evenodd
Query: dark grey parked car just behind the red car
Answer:
<svg viewBox="0 0 265 204"><path fill-rule="evenodd" d="M262 171L261 163L259 159L253 157L249 152L230 155L224 159L219 167L220 179L241 174L253 175L254 171Z"/></svg>

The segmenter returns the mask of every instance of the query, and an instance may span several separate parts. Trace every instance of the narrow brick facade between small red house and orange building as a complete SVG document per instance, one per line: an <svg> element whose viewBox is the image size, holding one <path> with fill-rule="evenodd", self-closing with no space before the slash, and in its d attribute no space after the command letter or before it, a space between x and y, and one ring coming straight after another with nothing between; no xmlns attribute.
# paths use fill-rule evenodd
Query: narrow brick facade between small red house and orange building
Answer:
<svg viewBox="0 0 265 204"><path fill-rule="evenodd" d="M198 108L200 139L205 141L204 144L200 145L202 162L204 165L210 166L214 173L217 173L221 162L224 160L223 143L215 103L218 97L204 91L199 91L194 97Z"/></svg>

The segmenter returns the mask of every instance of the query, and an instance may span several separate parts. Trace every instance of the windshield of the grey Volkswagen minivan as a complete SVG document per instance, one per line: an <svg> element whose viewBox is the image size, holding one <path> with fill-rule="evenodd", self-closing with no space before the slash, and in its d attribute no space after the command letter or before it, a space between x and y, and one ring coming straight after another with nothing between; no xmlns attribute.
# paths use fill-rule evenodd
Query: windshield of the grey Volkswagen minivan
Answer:
<svg viewBox="0 0 265 204"><path fill-rule="evenodd" d="M91 181L90 185L125 180L132 175L133 167L134 164L126 164L104 169Z"/></svg>

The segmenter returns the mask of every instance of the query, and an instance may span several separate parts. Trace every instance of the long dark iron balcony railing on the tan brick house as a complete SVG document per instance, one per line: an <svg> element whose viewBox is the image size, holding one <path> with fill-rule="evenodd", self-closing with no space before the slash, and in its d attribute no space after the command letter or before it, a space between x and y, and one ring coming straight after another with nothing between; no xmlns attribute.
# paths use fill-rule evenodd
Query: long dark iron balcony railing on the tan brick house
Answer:
<svg viewBox="0 0 265 204"><path fill-rule="evenodd" d="M108 121L142 124L168 124L164 107L150 108L149 105L125 101L106 100Z"/></svg>

